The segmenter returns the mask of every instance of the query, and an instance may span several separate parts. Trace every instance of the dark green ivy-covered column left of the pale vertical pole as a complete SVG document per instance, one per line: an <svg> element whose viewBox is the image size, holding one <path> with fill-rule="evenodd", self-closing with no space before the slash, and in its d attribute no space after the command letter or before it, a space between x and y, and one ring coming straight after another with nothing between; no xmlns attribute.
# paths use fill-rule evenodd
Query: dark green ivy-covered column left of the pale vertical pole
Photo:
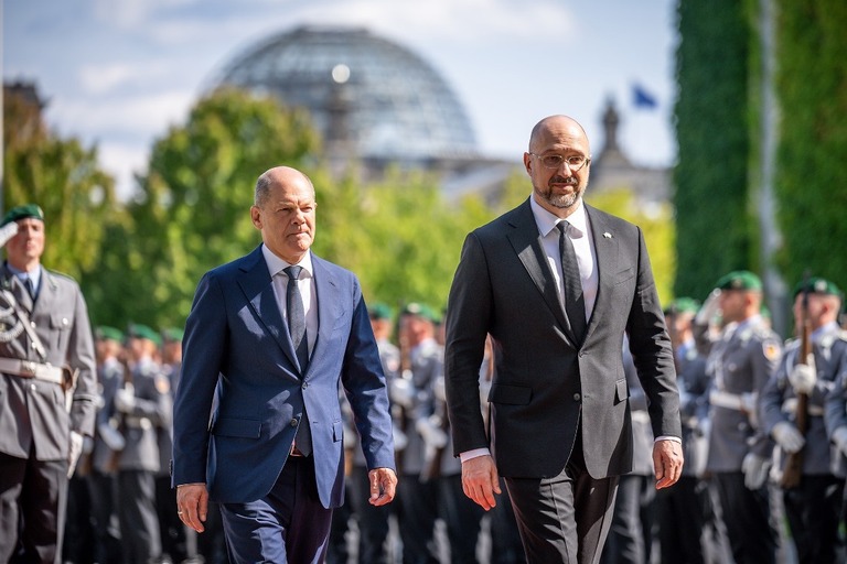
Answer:
<svg viewBox="0 0 847 564"><path fill-rule="evenodd" d="M721 274L754 263L750 209L748 2L678 3L677 295L705 297Z"/></svg>

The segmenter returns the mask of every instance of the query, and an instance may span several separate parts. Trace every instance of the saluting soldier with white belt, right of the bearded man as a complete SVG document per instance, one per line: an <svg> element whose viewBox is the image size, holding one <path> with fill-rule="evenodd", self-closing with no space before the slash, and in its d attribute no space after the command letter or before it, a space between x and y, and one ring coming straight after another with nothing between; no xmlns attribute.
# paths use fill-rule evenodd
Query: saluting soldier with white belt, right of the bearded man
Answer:
<svg viewBox="0 0 847 564"><path fill-rule="evenodd" d="M706 361L712 382L706 471L717 486L736 563L773 564L778 535L765 481L773 444L759 429L757 401L776 368L781 339L760 314L759 276L730 272L718 281L717 290L723 328ZM696 321L703 317L709 315Z"/></svg>

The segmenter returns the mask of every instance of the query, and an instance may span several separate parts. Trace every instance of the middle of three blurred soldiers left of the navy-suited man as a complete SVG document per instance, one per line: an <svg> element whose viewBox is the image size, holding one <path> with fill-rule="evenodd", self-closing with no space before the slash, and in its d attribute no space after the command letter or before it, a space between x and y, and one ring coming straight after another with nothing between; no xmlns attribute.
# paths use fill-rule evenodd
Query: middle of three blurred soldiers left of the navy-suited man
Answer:
<svg viewBox="0 0 847 564"><path fill-rule="evenodd" d="M130 378L115 393L126 446L118 460L120 533L124 562L147 564L162 556L156 510L156 475L160 471L159 429L171 424L171 389L157 361L161 343L146 325L131 325L127 352Z"/></svg>

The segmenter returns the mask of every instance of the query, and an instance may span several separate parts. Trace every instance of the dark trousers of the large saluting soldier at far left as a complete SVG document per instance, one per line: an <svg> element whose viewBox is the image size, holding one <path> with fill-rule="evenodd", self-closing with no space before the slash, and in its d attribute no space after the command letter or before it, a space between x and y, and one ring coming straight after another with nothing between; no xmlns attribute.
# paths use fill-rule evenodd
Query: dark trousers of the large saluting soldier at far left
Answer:
<svg viewBox="0 0 847 564"><path fill-rule="evenodd" d="M0 453L0 562L61 562L66 503L67 460Z"/></svg>

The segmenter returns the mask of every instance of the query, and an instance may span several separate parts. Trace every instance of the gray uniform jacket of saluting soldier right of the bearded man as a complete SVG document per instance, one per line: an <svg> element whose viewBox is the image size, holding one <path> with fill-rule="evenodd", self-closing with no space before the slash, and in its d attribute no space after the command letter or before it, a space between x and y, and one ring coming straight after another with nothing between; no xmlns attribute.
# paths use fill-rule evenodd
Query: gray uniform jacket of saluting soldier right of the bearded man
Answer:
<svg viewBox="0 0 847 564"><path fill-rule="evenodd" d="M712 345L706 362L712 384L710 393L749 394L755 401L776 369L781 343L759 316L728 326ZM754 409L747 413L712 400L710 417L708 471L741 471L749 452L771 455L773 442L760 431Z"/></svg>

